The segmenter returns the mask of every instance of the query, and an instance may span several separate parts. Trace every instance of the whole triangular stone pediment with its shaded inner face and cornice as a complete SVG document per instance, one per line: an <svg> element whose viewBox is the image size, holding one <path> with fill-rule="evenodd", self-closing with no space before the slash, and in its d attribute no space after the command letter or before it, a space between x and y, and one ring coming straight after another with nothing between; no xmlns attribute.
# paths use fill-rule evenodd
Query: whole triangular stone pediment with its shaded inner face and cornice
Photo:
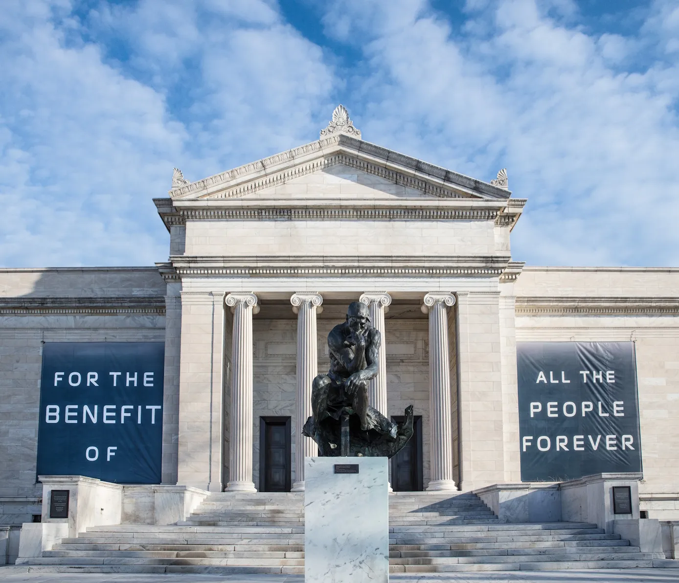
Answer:
<svg viewBox="0 0 679 583"><path fill-rule="evenodd" d="M175 170L175 172L179 172ZM426 164L346 134L321 138L190 183L174 181L170 198L457 198L506 200L506 188Z"/></svg>

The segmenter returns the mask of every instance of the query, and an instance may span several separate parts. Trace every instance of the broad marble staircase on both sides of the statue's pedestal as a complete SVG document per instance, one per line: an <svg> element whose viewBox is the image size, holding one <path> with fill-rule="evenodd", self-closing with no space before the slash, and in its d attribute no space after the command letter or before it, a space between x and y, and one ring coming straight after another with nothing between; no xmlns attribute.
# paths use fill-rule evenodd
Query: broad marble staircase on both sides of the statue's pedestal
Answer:
<svg viewBox="0 0 679 583"><path fill-rule="evenodd" d="M390 496L390 571L674 567L585 523L507 524L470 493ZM304 494L214 493L177 525L91 527L31 560L58 571L304 573Z"/></svg>

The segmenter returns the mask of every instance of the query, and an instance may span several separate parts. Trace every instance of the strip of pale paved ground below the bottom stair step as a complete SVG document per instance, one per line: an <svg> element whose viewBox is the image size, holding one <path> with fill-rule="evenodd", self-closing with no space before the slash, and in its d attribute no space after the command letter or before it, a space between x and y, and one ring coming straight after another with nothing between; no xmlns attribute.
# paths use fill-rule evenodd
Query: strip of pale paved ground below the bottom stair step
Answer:
<svg viewBox="0 0 679 583"><path fill-rule="evenodd" d="M147 575L143 573L45 573L29 567L0 567L3 583L304 583L301 575ZM679 569L583 569L485 573L394 574L392 583L674 583Z"/></svg>

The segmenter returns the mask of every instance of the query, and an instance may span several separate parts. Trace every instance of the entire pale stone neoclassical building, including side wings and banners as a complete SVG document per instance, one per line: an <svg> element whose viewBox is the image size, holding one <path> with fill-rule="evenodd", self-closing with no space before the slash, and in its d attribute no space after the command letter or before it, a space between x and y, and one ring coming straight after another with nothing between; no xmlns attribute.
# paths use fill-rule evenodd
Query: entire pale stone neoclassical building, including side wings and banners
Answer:
<svg viewBox="0 0 679 583"><path fill-rule="evenodd" d="M352 301L383 337L371 405L414 405L395 492L632 472L646 516L679 519L679 269L525 265L509 187L364 141L339 106L306 145L175 169L153 266L0 269L0 523L39 519L43 475L303 491Z"/></svg>

